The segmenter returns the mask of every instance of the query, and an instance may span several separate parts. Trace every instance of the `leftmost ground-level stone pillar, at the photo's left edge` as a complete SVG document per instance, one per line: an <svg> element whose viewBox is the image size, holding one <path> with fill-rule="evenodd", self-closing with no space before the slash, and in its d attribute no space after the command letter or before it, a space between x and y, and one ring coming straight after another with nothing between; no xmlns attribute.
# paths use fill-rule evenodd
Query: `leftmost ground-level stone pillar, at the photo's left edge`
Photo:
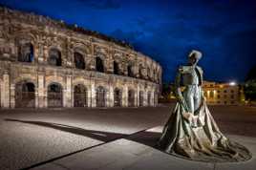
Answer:
<svg viewBox="0 0 256 170"><path fill-rule="evenodd" d="M3 75L3 82L1 86L1 106L10 108L10 76L8 73Z"/></svg>

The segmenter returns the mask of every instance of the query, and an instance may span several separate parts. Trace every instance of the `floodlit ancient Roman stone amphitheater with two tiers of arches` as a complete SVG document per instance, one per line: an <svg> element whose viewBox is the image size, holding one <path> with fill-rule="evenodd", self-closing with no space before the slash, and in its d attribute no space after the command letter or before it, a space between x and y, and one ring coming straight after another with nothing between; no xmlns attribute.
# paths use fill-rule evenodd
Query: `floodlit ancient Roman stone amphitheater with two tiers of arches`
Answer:
<svg viewBox="0 0 256 170"><path fill-rule="evenodd" d="M156 106L161 73L122 41L0 7L1 108Z"/></svg>

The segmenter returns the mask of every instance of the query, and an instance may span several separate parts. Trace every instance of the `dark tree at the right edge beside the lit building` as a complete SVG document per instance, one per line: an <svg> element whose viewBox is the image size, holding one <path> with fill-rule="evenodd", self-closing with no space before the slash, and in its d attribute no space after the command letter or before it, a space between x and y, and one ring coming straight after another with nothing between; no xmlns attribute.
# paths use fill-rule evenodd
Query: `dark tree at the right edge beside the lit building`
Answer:
<svg viewBox="0 0 256 170"><path fill-rule="evenodd" d="M245 99L256 101L256 65L250 69L245 78Z"/></svg>

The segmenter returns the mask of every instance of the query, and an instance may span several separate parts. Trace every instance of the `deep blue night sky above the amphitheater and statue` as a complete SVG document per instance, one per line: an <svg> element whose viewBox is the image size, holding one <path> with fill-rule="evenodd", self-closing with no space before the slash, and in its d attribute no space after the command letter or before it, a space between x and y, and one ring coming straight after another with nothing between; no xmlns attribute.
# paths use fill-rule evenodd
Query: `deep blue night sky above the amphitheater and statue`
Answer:
<svg viewBox="0 0 256 170"><path fill-rule="evenodd" d="M0 0L129 41L173 80L191 49L203 52L205 79L243 81L256 64L255 0Z"/></svg>

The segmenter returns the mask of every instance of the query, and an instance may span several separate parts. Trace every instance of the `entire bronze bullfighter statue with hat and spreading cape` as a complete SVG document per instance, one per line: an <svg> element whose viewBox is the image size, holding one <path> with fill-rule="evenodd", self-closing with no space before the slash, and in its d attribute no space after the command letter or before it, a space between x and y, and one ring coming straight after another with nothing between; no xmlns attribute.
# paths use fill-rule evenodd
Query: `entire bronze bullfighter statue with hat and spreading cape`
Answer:
<svg viewBox="0 0 256 170"><path fill-rule="evenodd" d="M188 65L179 68L175 86L178 102L165 124L159 146L169 154L202 161L242 161L251 158L241 144L219 130L203 96L202 53L189 53ZM181 92L181 86L184 86Z"/></svg>

